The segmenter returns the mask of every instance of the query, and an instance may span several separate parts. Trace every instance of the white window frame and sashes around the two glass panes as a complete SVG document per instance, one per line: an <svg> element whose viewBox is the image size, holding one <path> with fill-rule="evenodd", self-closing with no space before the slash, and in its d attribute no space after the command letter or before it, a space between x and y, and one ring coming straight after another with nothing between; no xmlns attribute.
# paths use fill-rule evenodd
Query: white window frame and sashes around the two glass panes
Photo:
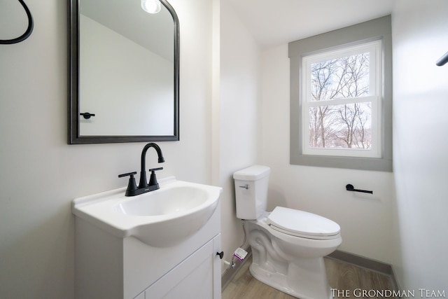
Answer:
<svg viewBox="0 0 448 299"><path fill-rule="evenodd" d="M381 158L381 75L382 51L381 40L360 43L356 46L346 46L324 53L307 55L302 58L302 153L304 155L329 155L344 157ZM370 89L369 95L357 98L337 98L324 101L311 100L311 64L332 60L350 55L370 53ZM309 108L311 106L332 106L361 102L372 103L372 148L311 148L309 146Z"/></svg>

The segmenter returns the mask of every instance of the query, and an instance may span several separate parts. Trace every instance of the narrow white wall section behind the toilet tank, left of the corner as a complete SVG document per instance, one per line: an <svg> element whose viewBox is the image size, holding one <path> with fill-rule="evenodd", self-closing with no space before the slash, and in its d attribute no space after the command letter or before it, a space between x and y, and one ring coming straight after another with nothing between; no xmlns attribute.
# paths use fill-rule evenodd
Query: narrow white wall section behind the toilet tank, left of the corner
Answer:
<svg viewBox="0 0 448 299"><path fill-rule="evenodd" d="M244 239L241 221L236 218L232 174L258 161L260 50L228 1L221 1L220 51L218 185L223 187L224 259L230 260Z"/></svg>

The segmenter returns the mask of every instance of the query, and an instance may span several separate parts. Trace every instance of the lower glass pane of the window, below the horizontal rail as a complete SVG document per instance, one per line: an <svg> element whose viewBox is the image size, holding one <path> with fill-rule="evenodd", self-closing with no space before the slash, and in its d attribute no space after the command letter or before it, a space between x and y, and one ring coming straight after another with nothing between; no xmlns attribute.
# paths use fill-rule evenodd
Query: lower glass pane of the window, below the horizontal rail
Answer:
<svg viewBox="0 0 448 299"><path fill-rule="evenodd" d="M309 108L309 147L370 149L372 103Z"/></svg>

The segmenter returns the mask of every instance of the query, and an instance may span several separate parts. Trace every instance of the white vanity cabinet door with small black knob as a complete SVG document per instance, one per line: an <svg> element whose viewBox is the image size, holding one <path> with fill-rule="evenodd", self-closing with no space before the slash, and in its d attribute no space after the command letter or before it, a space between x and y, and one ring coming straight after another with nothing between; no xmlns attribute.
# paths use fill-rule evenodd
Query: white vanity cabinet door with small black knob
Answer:
<svg viewBox="0 0 448 299"><path fill-rule="evenodd" d="M147 288L145 298L221 299L221 262L215 250L216 244L219 243L221 243L221 234L197 249ZM218 277L216 277L217 274ZM216 283L217 281L219 284Z"/></svg>

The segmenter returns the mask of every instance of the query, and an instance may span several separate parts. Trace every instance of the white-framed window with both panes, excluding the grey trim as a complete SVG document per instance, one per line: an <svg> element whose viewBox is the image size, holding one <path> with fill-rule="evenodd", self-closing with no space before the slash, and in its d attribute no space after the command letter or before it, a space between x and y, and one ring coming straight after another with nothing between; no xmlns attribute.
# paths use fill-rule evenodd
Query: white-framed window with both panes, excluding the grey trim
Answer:
<svg viewBox="0 0 448 299"><path fill-rule="evenodd" d="M302 151L380 158L381 41L302 59Z"/></svg>

